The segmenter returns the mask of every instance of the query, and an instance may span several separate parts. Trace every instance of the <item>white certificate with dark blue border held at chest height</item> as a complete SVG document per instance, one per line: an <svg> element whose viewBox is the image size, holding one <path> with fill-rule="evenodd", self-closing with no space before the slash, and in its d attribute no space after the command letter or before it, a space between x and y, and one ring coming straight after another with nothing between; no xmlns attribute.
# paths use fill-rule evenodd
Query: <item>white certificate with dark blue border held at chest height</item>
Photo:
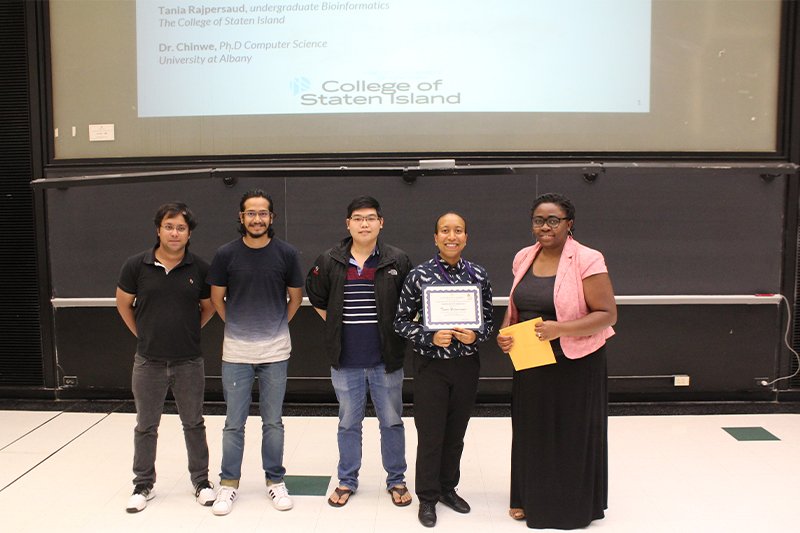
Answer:
<svg viewBox="0 0 800 533"><path fill-rule="evenodd" d="M483 327L480 285L423 285L422 325L425 331Z"/></svg>

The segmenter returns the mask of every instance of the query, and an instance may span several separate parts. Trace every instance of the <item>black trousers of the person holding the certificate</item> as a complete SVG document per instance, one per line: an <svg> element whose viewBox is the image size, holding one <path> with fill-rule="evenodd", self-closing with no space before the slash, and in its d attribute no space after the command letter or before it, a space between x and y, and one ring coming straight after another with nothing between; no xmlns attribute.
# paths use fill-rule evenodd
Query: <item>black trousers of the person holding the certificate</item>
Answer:
<svg viewBox="0 0 800 533"><path fill-rule="evenodd" d="M414 355L414 424L417 427L415 488L420 502L436 503L461 476L464 434L475 405L477 355L431 359Z"/></svg>

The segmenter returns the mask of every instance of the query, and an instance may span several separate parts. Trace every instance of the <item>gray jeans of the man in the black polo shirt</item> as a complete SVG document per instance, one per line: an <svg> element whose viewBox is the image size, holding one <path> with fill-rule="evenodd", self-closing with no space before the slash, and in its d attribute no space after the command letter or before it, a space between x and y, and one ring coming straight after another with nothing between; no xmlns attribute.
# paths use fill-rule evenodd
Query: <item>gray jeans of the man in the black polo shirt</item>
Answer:
<svg viewBox="0 0 800 533"><path fill-rule="evenodd" d="M158 425L169 389L172 389L183 424L192 485L208 479L208 443L203 421L203 358L166 362L146 359L137 354L133 360L132 389L136 403L133 484L152 487L156 481Z"/></svg>

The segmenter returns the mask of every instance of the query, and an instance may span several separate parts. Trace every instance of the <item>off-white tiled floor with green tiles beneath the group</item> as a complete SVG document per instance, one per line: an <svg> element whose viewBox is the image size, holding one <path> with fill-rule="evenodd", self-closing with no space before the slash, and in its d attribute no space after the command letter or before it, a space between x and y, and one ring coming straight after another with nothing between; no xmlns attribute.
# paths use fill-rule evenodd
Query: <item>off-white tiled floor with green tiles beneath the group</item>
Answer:
<svg viewBox="0 0 800 533"><path fill-rule="evenodd" d="M289 474L335 477L336 422L331 417L284 418ZM206 425L212 479L216 481L223 417L208 416ZM240 498L225 517L213 516L209 508L194 501L175 415L164 415L161 424L157 496L141 513L126 513L133 426L132 414L0 411L0 529L148 533L221 528L236 533L426 530L417 522L416 502L396 508L383 489L374 418L365 424L361 487L346 507L334 509L324 496L295 495L294 509L278 512L266 499L258 451L260 422L251 417ZM731 428L740 429L731 432ZM752 440L769 438L763 430L778 440ZM406 431L407 459L413 465L413 420L406 420ZM472 419L459 487L472 512L458 515L438 506L435 531L526 530L523 523L506 514L510 439L508 418ZM800 415L615 416L609 421L609 441L609 509L606 518L593 523L590 530L800 530ZM313 485L308 478L289 478L290 490L292 480L303 491ZM408 481L413 488L413 466ZM329 488L335 482L331 479Z"/></svg>

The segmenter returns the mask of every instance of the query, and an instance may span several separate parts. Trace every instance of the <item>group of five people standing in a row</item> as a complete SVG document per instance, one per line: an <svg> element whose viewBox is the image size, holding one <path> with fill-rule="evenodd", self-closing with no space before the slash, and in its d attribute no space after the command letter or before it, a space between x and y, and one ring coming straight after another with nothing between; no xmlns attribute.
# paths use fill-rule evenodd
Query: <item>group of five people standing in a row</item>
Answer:
<svg viewBox="0 0 800 533"><path fill-rule="evenodd" d="M478 345L490 338L494 325L487 271L462 257L466 220L455 212L436 219L437 252L412 268L405 252L380 238L384 218L378 201L355 198L345 219L349 236L320 254L303 276L297 250L274 234L274 216L268 194L258 189L245 193L239 205L241 238L220 247L208 265L188 249L197 225L192 212L180 202L165 204L154 219L155 247L129 258L122 268L117 309L137 338L134 490L128 512L143 510L155 495L157 431L170 389L183 425L195 497L216 515L231 512L256 377L267 494L276 509L292 508L284 481L281 413L291 353L288 324L305 287L324 321L324 346L339 403L338 485L328 504L343 507L358 490L367 395L378 418L386 490L394 505L411 504L402 420L405 342L410 340L419 521L433 527L437 503L468 513L470 506L456 487L478 388ZM572 203L562 195L542 195L531 219L537 242L514 260L503 325L541 316L536 334L551 343L557 364L514 373L509 514L529 527L585 527L602 518L607 507L603 346L613 334L616 307L602 255L572 239ZM423 325L424 288L450 284L475 288L479 326ZM215 311L225 322L226 403L216 491L208 479L200 352L200 329ZM498 335L497 343L508 352L514 338Z"/></svg>

